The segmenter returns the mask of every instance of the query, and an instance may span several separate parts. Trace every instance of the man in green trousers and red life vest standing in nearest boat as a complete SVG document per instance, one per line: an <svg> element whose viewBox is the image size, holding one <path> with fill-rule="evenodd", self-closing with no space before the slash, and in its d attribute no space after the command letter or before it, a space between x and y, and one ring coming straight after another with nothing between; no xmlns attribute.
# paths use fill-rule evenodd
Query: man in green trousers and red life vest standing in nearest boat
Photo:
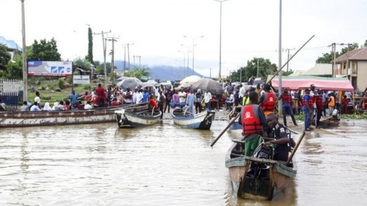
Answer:
<svg viewBox="0 0 367 206"><path fill-rule="evenodd" d="M242 107L238 123L243 126L242 135L245 142L245 156L251 156L257 146L262 143L262 137L268 137L269 126L262 108L257 105L258 94L250 92L250 104Z"/></svg>

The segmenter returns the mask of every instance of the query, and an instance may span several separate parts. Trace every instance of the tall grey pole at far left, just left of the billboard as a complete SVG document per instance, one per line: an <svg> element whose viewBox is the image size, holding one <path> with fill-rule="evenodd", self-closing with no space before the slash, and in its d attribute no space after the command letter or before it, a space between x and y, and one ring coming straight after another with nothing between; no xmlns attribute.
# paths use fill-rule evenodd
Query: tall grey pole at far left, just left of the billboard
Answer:
<svg viewBox="0 0 367 206"><path fill-rule="evenodd" d="M25 15L24 15L24 0L21 0L22 5L22 56L23 56L23 101L28 101L28 63L25 45Z"/></svg>

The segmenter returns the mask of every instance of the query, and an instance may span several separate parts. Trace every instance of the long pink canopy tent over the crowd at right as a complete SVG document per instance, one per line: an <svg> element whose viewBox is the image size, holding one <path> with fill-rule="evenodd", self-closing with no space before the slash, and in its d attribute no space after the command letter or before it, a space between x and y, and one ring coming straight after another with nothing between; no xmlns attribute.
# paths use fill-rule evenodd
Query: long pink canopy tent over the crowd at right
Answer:
<svg viewBox="0 0 367 206"><path fill-rule="evenodd" d="M268 76L268 80L272 76ZM346 77L333 78L333 77L316 77L316 76L283 76L281 79L281 87L288 87L291 90L299 90L310 88L310 85L314 84L316 89L322 89L326 91L346 91L353 92L354 88L350 81ZM273 78L272 85L275 88L279 87L278 76Z"/></svg>

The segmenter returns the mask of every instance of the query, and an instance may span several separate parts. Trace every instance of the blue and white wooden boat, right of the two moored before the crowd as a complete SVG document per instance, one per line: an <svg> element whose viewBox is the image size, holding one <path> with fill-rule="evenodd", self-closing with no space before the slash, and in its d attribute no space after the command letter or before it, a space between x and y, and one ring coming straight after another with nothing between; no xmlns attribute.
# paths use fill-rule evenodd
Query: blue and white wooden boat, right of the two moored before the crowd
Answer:
<svg viewBox="0 0 367 206"><path fill-rule="evenodd" d="M210 129L215 111L205 110L199 114L174 110L171 113L174 124L188 129Z"/></svg>

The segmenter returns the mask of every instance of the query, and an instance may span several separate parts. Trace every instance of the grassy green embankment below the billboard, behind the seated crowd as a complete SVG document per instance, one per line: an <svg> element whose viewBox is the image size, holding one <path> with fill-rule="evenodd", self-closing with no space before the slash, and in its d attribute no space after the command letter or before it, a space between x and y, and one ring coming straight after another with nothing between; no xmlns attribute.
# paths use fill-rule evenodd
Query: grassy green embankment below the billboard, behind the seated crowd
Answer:
<svg viewBox="0 0 367 206"><path fill-rule="evenodd" d="M59 102L60 100L69 98L71 94L70 79L68 78L45 78L45 77L32 77L28 78L28 86L34 87L36 91L40 92L41 105L45 102ZM74 85L74 91L76 94L82 94L90 92L93 86L97 86L98 83L92 82L88 85ZM33 103L36 93L28 89L28 101Z"/></svg>

